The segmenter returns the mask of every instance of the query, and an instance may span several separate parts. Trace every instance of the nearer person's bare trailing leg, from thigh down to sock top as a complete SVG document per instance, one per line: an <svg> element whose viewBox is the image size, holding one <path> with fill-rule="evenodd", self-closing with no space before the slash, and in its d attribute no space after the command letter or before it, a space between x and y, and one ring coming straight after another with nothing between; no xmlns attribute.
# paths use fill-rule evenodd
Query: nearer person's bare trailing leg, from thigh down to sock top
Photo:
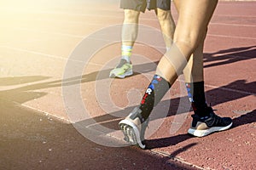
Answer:
<svg viewBox="0 0 256 170"><path fill-rule="evenodd" d="M218 0L178 1L179 17L174 41L170 50L160 59L156 74L171 83L176 80L203 39L217 3Z"/></svg>

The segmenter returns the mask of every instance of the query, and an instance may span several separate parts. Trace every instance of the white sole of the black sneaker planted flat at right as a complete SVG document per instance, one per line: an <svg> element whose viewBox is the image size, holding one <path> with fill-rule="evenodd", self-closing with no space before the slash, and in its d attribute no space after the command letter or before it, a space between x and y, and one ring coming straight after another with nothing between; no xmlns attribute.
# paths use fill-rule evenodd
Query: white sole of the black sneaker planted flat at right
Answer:
<svg viewBox="0 0 256 170"><path fill-rule="evenodd" d="M207 130L196 130L195 128L189 128L188 133L192 134L196 137L204 137L207 136L210 133L214 133L214 132L220 132L220 131L224 131L229 129L232 126L232 122L230 123L230 125L226 126L226 127L210 127Z"/></svg>

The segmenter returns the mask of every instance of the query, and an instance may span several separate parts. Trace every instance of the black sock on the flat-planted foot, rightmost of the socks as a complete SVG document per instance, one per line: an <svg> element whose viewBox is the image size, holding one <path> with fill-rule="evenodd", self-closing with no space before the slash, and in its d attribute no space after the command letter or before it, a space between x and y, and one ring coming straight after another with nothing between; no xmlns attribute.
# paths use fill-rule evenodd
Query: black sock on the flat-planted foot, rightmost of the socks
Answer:
<svg viewBox="0 0 256 170"><path fill-rule="evenodd" d="M186 83L186 88L188 90L189 101L191 102L195 114L208 116L210 111L207 109L204 82L189 82Z"/></svg>

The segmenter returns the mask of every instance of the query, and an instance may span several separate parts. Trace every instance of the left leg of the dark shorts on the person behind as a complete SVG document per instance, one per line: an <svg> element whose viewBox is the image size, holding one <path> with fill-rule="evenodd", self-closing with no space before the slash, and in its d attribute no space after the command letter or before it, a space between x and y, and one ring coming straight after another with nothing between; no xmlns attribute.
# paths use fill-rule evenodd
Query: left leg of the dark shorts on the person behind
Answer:
<svg viewBox="0 0 256 170"><path fill-rule="evenodd" d="M146 0L121 0L120 8L132 9L140 12L145 12L147 7Z"/></svg>

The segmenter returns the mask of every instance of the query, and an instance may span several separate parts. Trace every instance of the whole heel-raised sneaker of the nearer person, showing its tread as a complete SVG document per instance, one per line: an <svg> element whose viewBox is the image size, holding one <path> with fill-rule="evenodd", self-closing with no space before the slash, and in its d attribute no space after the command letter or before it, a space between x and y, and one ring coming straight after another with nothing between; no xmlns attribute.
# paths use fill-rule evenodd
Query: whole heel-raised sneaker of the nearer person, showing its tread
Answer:
<svg viewBox="0 0 256 170"><path fill-rule="evenodd" d="M119 122L119 128L124 133L126 142L136 144L141 149L145 149L144 135L148 127L149 118L146 121L143 120L141 112L139 107L136 107L129 116Z"/></svg>

